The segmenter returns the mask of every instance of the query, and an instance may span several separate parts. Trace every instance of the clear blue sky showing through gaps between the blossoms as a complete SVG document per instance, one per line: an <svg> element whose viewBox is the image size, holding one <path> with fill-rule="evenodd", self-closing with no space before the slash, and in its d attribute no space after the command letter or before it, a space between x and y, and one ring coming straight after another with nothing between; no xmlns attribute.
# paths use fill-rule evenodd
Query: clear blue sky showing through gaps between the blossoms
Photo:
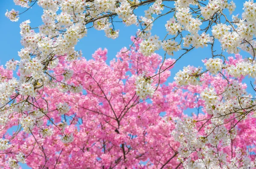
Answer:
<svg viewBox="0 0 256 169"><path fill-rule="evenodd" d="M236 11L233 13L241 14L242 8L243 8L243 2L244 0L233 0L236 3ZM173 4L172 2L166 2L168 4ZM31 21L31 27L38 27L42 24L41 21L41 14L43 13L43 9L39 7L38 5L35 5L32 7L32 9L29 9L26 13L22 14L20 16L20 19L18 22L11 22L9 19L5 17L6 9L9 11L14 8L15 10L18 10L20 12L24 11L25 8L21 8L19 6L15 6L14 2L12 0L1 0L0 1L0 32L1 32L1 41L0 41L0 49L1 49L1 55L0 55L0 65L5 65L6 61L9 59L14 58L15 60L19 60L19 56L17 55L17 52L20 51L22 46L20 45L20 28L19 25L24 20L30 20ZM145 8L148 8L148 6L145 6L143 8L139 8L135 10L136 14L143 15ZM228 13L226 9L226 13ZM170 19L170 15L164 16L157 20L154 23L152 35L157 34L160 39L163 39L166 35L166 28L165 24L166 21ZM83 39L78 42L76 45L76 50L82 50L83 56L87 59L92 58L92 54L96 49L98 48L107 48L108 49L108 60L109 63L110 60L112 60L116 53L122 48L122 47L129 47L131 45L130 37L131 35L135 35L137 29L139 27L132 25L129 27L126 27L122 23L116 23L115 28L118 28L119 31L119 37L117 39L109 39L105 36L104 31L97 31L94 28L91 28L88 30L87 37L84 37ZM215 48L218 48L220 50L220 45L215 46ZM163 50L157 51L158 54L164 55ZM181 52L177 52L174 56L167 56L167 58L177 58ZM226 56L234 56L233 54L226 54ZM246 52L241 52L244 57L250 57L250 54ZM175 73L182 69L183 66L187 65L194 65L195 67L203 66L203 63L201 62L202 59L211 57L210 48L199 48L191 51L189 54L186 54L183 56L182 59L180 59L176 64L175 67L172 69L172 75L169 77L168 82L173 81L173 77L175 76ZM204 68L205 69L205 68ZM250 86L250 81L246 79L244 82L247 83L248 86ZM248 87L248 92L252 93L251 87ZM254 94L254 93L253 93ZM187 113L191 112L192 110L188 110ZM27 169L26 165L22 166L23 169Z"/></svg>

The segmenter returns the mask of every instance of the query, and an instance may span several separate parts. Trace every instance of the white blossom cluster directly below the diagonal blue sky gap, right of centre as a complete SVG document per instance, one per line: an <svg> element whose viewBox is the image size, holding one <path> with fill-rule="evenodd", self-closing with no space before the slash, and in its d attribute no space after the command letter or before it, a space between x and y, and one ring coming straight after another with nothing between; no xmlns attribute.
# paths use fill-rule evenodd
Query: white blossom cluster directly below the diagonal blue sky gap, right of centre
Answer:
<svg viewBox="0 0 256 169"><path fill-rule="evenodd" d="M201 81L198 74L202 72L202 67L191 68L190 66L183 67L183 70L175 74L175 81L178 85L200 85Z"/></svg>

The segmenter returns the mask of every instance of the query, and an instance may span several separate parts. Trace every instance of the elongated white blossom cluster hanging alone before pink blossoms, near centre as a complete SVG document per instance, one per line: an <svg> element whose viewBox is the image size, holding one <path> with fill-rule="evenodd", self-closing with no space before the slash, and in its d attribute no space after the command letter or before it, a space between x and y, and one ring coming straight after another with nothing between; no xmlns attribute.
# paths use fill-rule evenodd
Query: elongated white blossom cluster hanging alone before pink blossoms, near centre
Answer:
<svg viewBox="0 0 256 169"><path fill-rule="evenodd" d="M153 79L150 79L149 77L145 77L145 72L143 71L142 74L137 76L136 78L136 94L137 96L140 96L140 99L146 99L146 97L149 95L150 97L154 94L154 88L151 85L153 82Z"/></svg>

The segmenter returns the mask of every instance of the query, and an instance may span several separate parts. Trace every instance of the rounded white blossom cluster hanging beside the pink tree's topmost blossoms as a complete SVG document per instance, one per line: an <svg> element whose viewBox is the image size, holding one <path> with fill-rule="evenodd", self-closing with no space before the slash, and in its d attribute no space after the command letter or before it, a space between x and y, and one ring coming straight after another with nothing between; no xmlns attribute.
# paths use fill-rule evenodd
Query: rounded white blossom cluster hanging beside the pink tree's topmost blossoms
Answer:
<svg viewBox="0 0 256 169"><path fill-rule="evenodd" d="M149 37L146 40L143 40L140 43L140 51L144 56L150 56L154 51L158 50L161 47L161 41L158 40L159 37L156 35Z"/></svg>

